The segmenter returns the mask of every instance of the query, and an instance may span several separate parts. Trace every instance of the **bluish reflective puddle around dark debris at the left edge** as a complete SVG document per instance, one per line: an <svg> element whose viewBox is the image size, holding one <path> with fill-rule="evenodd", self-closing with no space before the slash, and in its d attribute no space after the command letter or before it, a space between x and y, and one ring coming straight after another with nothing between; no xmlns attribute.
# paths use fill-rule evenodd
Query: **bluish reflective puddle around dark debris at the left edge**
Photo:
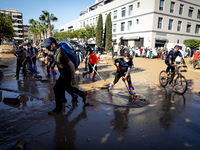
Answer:
<svg viewBox="0 0 200 150"><path fill-rule="evenodd" d="M14 100L6 100L6 98L13 98ZM16 98L18 98L19 101ZM31 96L22 95L15 92L0 91L0 110L38 105L42 105L42 101L32 98Z"/></svg>

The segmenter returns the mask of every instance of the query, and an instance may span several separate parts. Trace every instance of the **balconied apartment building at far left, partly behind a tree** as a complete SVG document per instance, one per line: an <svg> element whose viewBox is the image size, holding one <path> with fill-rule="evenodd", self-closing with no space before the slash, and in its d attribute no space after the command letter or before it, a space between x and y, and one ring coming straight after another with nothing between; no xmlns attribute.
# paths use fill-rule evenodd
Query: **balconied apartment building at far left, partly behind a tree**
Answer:
<svg viewBox="0 0 200 150"><path fill-rule="evenodd" d="M16 9L6 8L6 10L0 10L0 13L10 15L14 21L13 28L15 30L16 36L14 37L15 41L21 43L23 41L23 15L20 12L17 12Z"/></svg>

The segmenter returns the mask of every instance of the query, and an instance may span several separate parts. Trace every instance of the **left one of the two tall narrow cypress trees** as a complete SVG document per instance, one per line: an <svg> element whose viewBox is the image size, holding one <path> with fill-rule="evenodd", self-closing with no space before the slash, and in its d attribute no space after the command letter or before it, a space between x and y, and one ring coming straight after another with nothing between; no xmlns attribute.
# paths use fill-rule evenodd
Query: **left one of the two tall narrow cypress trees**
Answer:
<svg viewBox="0 0 200 150"><path fill-rule="evenodd" d="M103 35L103 20L102 14L99 14L97 28L96 28L96 44L102 47L102 35Z"/></svg>

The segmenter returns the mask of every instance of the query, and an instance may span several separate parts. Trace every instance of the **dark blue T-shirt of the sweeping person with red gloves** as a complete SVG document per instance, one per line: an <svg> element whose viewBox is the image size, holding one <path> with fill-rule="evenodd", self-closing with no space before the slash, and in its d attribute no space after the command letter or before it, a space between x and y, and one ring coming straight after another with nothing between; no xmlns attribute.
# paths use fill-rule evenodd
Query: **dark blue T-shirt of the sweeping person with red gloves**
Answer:
<svg viewBox="0 0 200 150"><path fill-rule="evenodd" d="M119 67L122 73L127 72L128 68L132 68L133 66L132 59L130 59L129 62L125 63L124 58L118 58L115 59L115 63L119 63Z"/></svg>

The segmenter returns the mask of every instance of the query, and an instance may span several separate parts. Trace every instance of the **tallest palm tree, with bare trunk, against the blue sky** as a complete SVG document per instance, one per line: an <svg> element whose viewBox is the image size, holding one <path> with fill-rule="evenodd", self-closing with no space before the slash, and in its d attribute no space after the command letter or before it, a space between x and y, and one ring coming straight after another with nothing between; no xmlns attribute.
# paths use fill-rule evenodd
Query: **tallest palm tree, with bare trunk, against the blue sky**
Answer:
<svg viewBox="0 0 200 150"><path fill-rule="evenodd" d="M52 36L51 33L51 21L57 21L58 18L55 17L53 14L50 14L47 10L42 11L42 15L40 15L39 19L43 22L48 23L48 28L49 28L49 36Z"/></svg>

